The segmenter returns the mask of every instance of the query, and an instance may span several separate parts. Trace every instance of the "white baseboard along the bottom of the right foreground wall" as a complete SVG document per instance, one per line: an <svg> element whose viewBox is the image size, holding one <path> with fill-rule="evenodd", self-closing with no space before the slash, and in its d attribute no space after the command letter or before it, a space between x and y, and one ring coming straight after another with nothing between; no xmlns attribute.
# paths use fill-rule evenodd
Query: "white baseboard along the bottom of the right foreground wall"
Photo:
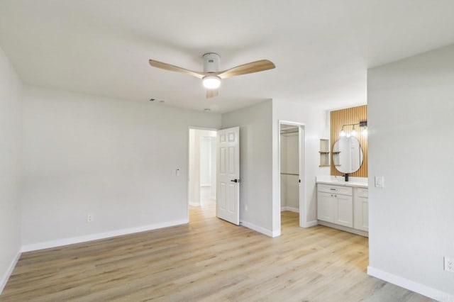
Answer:
<svg viewBox="0 0 454 302"><path fill-rule="evenodd" d="M409 289L410 291L414 291L415 293L421 293L421 295L433 298L436 301L442 302L454 301L454 296L450 295L449 293L438 291L438 289L433 289L431 287L428 287L415 281L411 281L401 276L384 272L381 269L376 269L375 267L367 267L367 274L369 276L375 276L375 278L382 279L383 281L387 281L397 286L401 286L404 289Z"/></svg>

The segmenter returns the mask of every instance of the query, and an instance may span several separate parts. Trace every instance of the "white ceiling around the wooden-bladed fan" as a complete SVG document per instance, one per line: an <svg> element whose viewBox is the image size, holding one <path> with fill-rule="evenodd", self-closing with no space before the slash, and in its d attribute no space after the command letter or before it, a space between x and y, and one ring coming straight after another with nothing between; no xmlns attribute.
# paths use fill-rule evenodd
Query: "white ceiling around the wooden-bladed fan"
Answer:
<svg viewBox="0 0 454 302"><path fill-rule="evenodd" d="M1 0L0 47L23 82L131 101L226 112L264 99L340 108L366 102L368 67L454 43L454 0ZM199 79L201 70L268 59L276 69Z"/></svg>

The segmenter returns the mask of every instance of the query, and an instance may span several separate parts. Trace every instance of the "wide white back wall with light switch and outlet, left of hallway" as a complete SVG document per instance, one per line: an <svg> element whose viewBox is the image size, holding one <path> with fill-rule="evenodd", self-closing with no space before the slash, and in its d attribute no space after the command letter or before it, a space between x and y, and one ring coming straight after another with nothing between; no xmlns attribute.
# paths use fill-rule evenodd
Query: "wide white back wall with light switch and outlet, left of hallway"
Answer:
<svg viewBox="0 0 454 302"><path fill-rule="evenodd" d="M221 116L27 86L23 120L27 250L187 222L188 128Z"/></svg>

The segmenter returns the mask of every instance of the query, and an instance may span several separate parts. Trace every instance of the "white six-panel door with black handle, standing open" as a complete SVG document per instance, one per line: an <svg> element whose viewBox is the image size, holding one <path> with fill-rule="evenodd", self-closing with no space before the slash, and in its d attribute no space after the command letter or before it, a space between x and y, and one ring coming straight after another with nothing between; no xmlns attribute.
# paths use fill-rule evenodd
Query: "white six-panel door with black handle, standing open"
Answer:
<svg viewBox="0 0 454 302"><path fill-rule="evenodd" d="M240 128L218 130L216 216L240 224Z"/></svg>

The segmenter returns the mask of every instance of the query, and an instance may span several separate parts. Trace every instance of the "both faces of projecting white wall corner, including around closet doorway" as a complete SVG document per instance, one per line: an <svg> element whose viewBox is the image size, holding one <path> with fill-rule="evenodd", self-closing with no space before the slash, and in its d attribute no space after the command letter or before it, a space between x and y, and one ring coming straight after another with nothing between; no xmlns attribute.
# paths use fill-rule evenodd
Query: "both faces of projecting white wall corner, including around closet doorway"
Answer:
<svg viewBox="0 0 454 302"><path fill-rule="evenodd" d="M240 126L240 220L271 236L280 235L279 120L304 123L305 206L301 225L316 224L319 139L329 137L326 111L292 101L273 99L222 115L222 128ZM248 211L245 211L245 206Z"/></svg>

